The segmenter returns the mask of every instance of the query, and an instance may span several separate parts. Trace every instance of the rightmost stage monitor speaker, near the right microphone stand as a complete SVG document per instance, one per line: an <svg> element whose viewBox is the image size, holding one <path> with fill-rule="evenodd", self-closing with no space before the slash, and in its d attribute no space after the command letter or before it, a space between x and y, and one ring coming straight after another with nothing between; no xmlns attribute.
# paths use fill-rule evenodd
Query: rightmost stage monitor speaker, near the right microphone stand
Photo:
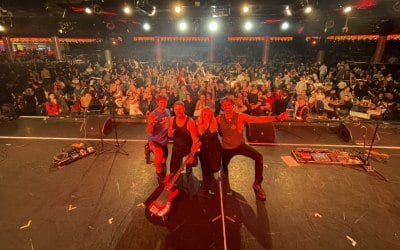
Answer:
<svg viewBox="0 0 400 250"><path fill-rule="evenodd" d="M367 123L341 123L338 127L338 136L345 142L352 142L356 145L371 145L375 132L375 126ZM379 134L376 134L375 141L379 141Z"/></svg>

